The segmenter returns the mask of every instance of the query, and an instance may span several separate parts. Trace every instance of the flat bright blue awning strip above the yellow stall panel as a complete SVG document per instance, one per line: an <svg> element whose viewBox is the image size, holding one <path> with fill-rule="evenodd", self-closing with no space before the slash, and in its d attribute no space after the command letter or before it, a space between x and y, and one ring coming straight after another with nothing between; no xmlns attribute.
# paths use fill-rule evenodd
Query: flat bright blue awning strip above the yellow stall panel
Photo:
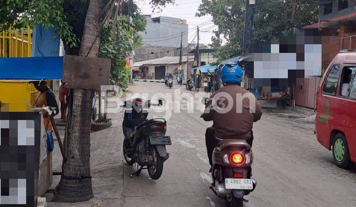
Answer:
<svg viewBox="0 0 356 207"><path fill-rule="evenodd" d="M63 57L0 58L2 80L62 79Z"/></svg>

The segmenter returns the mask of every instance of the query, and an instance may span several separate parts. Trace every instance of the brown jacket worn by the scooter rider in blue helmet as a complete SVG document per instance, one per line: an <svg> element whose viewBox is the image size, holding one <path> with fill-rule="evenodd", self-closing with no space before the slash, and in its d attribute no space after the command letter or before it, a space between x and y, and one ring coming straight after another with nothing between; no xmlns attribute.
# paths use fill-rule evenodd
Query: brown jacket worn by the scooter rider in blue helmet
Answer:
<svg viewBox="0 0 356 207"><path fill-rule="evenodd" d="M230 102L226 95L229 95ZM238 85L227 85L210 97L203 119L214 121L218 138L248 139L253 123L260 120L261 115L261 106L252 93Z"/></svg>

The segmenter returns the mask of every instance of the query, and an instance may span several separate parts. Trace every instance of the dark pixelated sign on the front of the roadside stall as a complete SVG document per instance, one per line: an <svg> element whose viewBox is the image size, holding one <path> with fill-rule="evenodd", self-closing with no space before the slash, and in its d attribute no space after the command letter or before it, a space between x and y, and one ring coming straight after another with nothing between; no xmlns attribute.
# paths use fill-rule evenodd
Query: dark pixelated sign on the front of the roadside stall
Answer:
<svg viewBox="0 0 356 207"><path fill-rule="evenodd" d="M34 206L40 158L38 112L0 112L0 206Z"/></svg>

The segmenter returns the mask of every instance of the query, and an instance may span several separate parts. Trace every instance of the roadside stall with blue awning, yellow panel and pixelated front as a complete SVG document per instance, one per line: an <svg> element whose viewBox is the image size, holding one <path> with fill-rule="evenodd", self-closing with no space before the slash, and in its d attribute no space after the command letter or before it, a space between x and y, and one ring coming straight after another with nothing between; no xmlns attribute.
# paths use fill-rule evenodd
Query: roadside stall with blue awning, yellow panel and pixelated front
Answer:
<svg viewBox="0 0 356 207"><path fill-rule="evenodd" d="M43 110L33 109L38 91L30 81L60 80L62 70L63 57L0 58L0 179L18 189L1 197L6 204L34 206L52 184Z"/></svg>

